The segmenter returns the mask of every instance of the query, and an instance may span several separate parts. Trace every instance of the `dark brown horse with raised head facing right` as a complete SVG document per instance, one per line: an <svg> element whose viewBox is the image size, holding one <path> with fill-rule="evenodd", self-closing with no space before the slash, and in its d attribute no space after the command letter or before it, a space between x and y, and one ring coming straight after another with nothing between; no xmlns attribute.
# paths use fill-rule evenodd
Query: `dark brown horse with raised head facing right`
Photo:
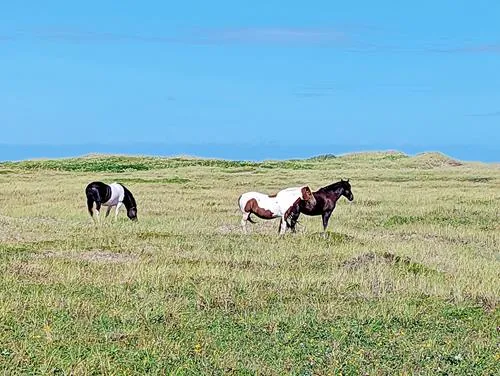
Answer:
<svg viewBox="0 0 500 376"><path fill-rule="evenodd" d="M311 201L298 201L293 205L290 210L288 218L290 219L290 224L288 226L295 232L295 225L297 224L297 219L300 213L305 215L320 215L323 219L323 232L326 232L326 227L328 226L328 220L332 215L333 209L337 204L337 200L344 196L349 201L354 199L351 191L351 184L349 184L349 179L340 180L337 183L330 184L326 187L318 189L313 192L313 196L316 199L313 204Z"/></svg>

